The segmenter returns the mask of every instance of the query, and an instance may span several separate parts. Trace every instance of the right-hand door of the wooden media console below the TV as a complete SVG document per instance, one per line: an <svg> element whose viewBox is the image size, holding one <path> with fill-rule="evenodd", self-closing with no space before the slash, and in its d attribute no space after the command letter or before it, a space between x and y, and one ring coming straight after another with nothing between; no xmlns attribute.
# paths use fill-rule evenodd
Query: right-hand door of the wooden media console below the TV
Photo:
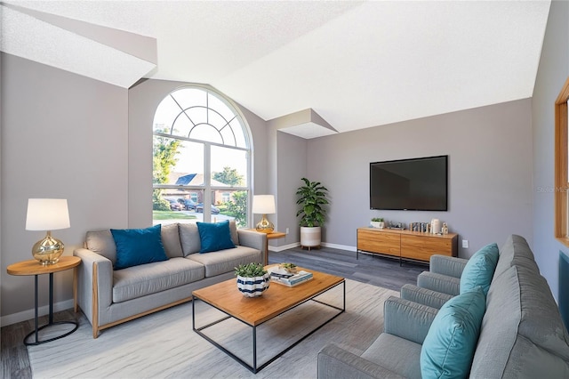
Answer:
<svg viewBox="0 0 569 379"><path fill-rule="evenodd" d="M429 262L433 254L453 255L453 239L429 235L401 235L401 257Z"/></svg>

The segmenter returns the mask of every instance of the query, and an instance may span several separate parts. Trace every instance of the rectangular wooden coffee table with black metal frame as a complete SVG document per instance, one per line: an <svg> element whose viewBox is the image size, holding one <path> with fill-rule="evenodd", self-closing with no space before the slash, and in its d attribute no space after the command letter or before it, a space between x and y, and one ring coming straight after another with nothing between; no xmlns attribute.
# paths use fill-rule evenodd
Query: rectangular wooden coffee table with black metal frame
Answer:
<svg viewBox="0 0 569 379"><path fill-rule="evenodd" d="M299 270L306 269L299 268ZM315 270L307 271L312 272L314 276L311 280L294 287L271 283L268 289L259 297L244 297L244 295L237 290L236 279L229 279L213 286L197 289L192 293L192 329L194 329L198 335L201 335L207 341L217 346L221 351L227 353L231 358L236 359L236 361L241 363L244 367L247 367L252 373L258 373L263 367L267 367L268 364L282 356L286 351L291 350L306 337L312 335L319 328L324 327L325 324L346 310L346 282L344 278ZM318 295L324 294L340 285L343 285L341 307L316 299ZM209 304L217 310L221 310L227 314L227 317L213 321L204 327L196 328L196 299ZM278 352L274 357L258 366L257 327L260 327L263 323L275 319L287 311L294 311L294 308L305 302L318 302L326 307L337 310L337 312L334 312L332 317L325 319L323 323L310 330L307 335L302 336L300 340L287 346L283 351ZM215 326L228 319L237 319L252 328L252 365L245 362L244 359L237 357L233 352L228 351L228 349L214 341L210 336L204 334L204 329Z"/></svg>

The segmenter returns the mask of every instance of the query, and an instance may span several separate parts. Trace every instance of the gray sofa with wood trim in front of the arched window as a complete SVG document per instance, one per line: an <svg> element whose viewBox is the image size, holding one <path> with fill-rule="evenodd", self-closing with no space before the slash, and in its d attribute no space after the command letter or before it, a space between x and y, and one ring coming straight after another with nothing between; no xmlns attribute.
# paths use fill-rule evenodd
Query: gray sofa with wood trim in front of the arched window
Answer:
<svg viewBox="0 0 569 379"><path fill-rule="evenodd" d="M93 338L100 330L191 300L192 291L235 278L239 264L263 262L266 238L254 230L236 229L229 222L235 248L200 254L200 236L194 223L163 225L162 244L167 256L114 270L116 245L110 230L88 231L84 248L74 255L77 268L77 306L92 325Z"/></svg>

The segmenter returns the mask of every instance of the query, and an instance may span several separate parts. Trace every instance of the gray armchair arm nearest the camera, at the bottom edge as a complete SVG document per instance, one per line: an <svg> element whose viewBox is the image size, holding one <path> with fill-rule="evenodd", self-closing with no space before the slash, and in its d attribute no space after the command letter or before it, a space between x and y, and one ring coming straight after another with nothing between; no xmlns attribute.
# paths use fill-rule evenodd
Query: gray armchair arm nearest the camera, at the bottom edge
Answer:
<svg viewBox="0 0 569 379"><path fill-rule="evenodd" d="M318 379L403 378L385 367L329 343L318 352Z"/></svg>

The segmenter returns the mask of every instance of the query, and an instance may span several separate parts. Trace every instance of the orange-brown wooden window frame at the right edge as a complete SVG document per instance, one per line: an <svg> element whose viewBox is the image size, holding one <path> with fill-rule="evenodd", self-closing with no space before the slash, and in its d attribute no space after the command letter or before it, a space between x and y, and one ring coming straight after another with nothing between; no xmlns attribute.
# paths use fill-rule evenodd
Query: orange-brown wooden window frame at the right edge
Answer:
<svg viewBox="0 0 569 379"><path fill-rule="evenodd" d="M565 80L561 92L555 101L555 238L565 246L569 247L568 221L569 211L567 210L567 195L569 188L567 173L567 154L569 137L569 119L567 115L567 101L569 101L569 77Z"/></svg>

